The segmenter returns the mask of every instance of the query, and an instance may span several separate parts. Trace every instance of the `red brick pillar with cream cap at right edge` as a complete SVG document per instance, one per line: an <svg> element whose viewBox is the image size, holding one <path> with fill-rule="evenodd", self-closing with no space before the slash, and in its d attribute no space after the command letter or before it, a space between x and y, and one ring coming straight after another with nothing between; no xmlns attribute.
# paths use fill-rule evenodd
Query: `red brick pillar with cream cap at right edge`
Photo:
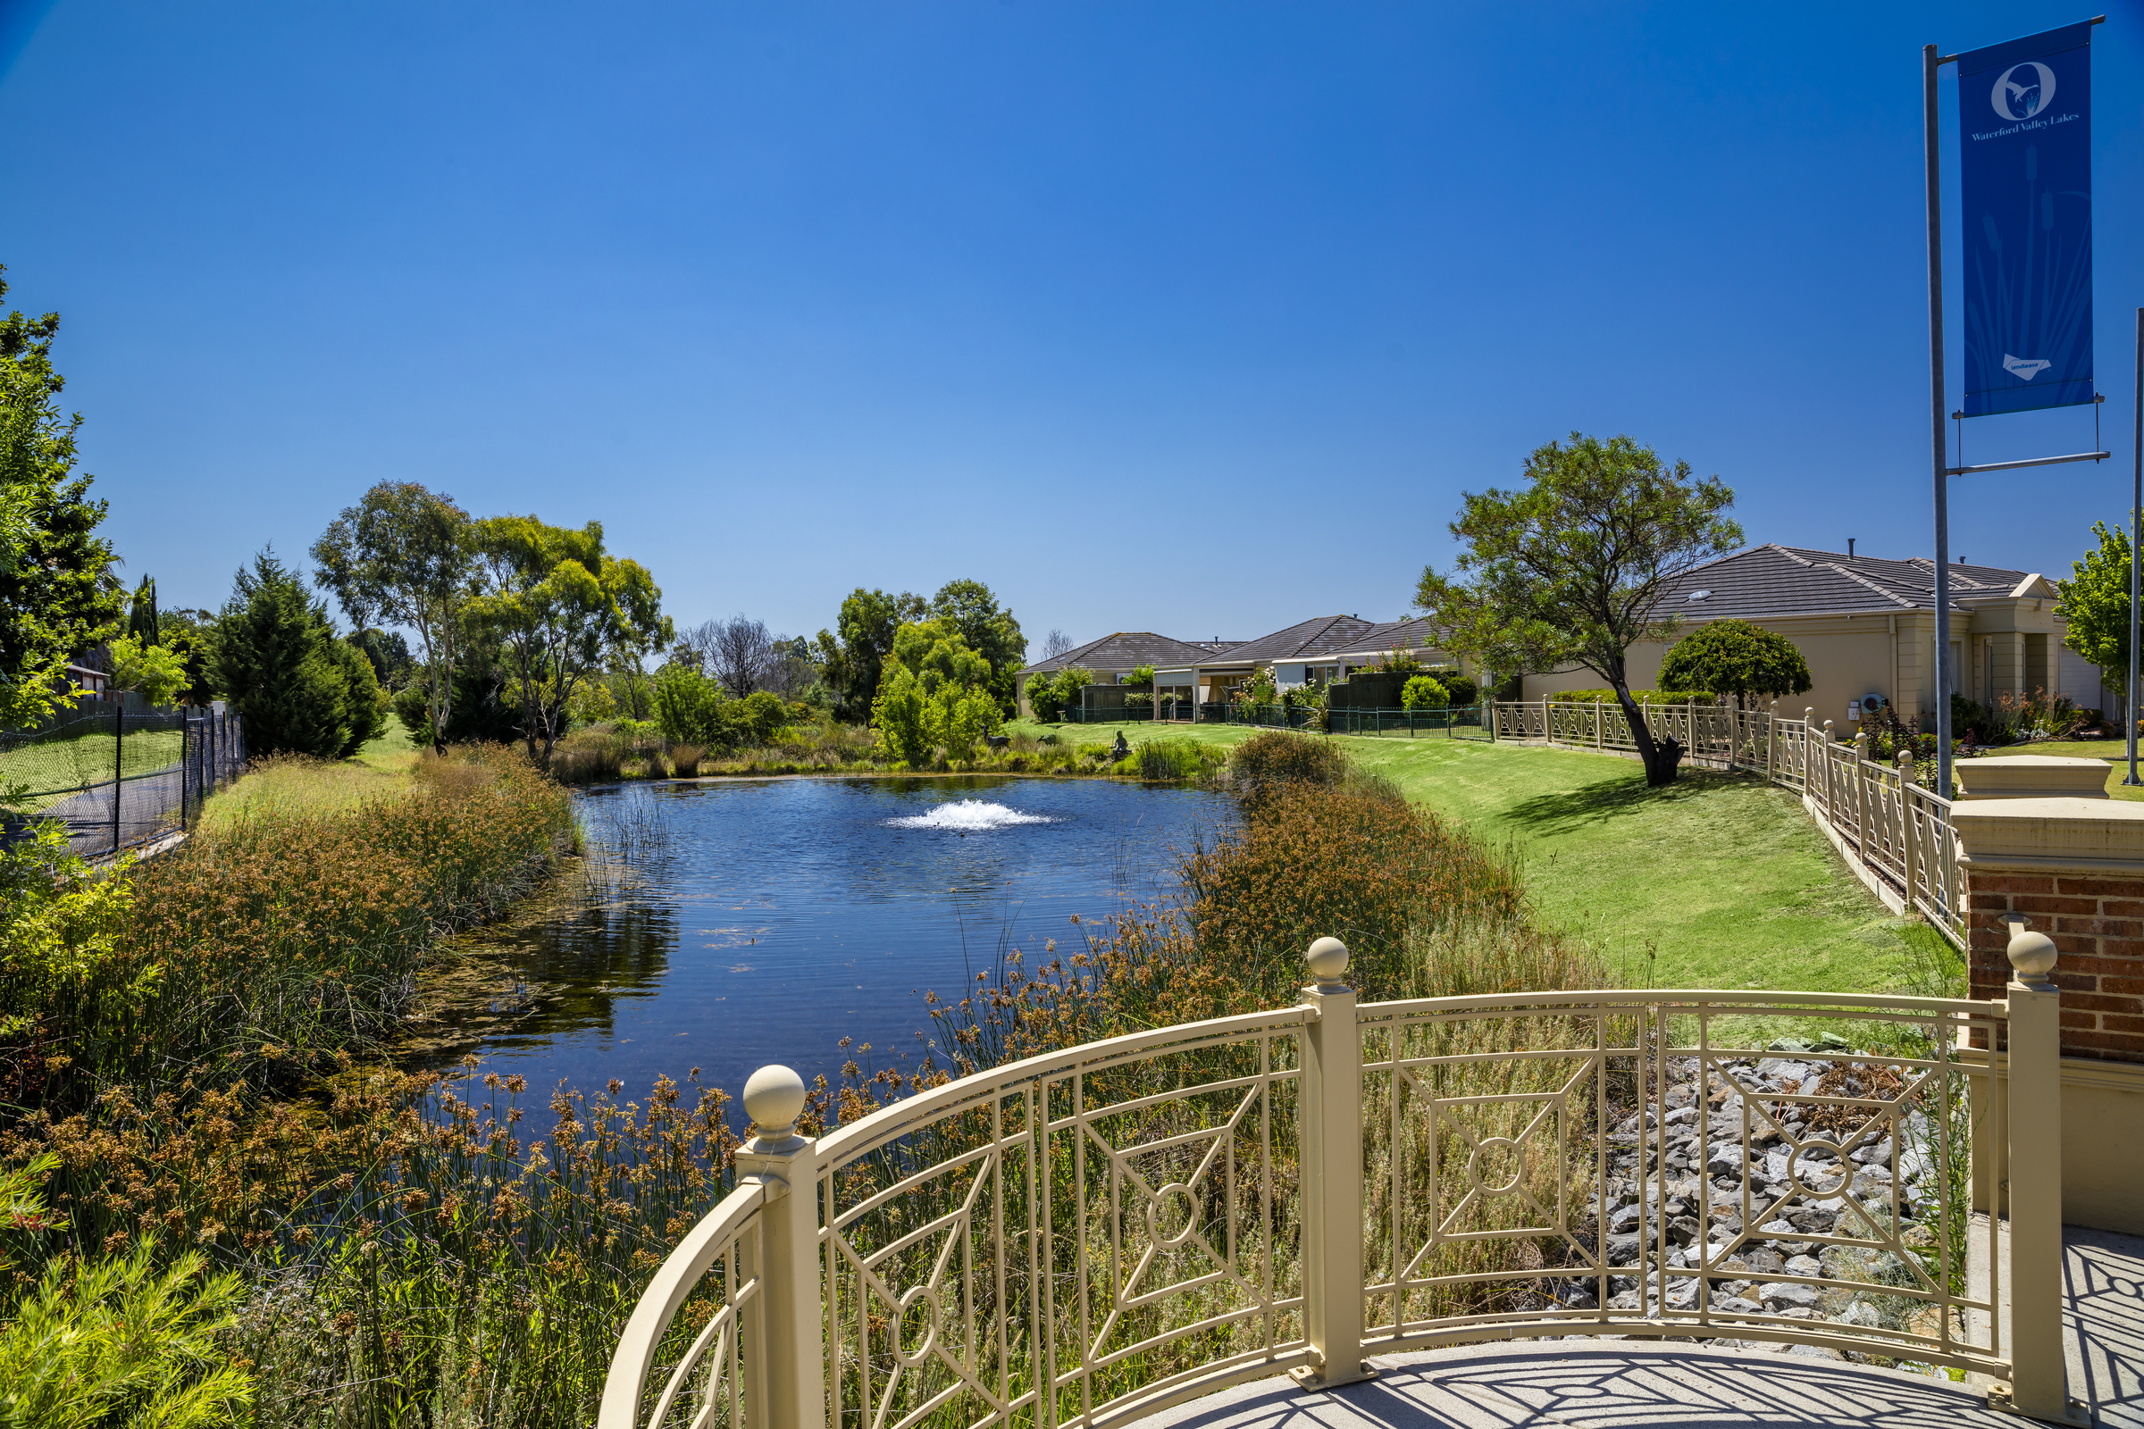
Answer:
<svg viewBox="0 0 2144 1429"><path fill-rule="evenodd" d="M2054 938L2063 1028L2063 1215L2144 1234L2144 803L1951 808L1975 998L2011 979L2007 913Z"/></svg>

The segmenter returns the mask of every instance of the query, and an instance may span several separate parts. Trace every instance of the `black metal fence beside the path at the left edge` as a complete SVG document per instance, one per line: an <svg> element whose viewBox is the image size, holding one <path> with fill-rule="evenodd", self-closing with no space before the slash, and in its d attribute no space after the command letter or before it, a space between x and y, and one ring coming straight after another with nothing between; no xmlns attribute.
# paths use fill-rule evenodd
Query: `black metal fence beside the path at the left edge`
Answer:
<svg viewBox="0 0 2144 1429"><path fill-rule="evenodd" d="M0 842L60 823L92 859L191 829L247 763L244 720L221 707L96 701L36 731L0 731Z"/></svg>

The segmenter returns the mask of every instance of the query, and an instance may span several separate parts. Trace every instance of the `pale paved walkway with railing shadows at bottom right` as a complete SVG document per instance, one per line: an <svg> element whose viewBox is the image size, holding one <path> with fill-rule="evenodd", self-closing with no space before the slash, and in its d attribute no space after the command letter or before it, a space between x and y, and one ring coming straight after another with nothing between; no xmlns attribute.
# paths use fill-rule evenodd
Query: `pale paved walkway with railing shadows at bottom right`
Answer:
<svg viewBox="0 0 2144 1429"><path fill-rule="evenodd" d="M2069 1395L2103 1429L2144 1429L2144 1240L2065 1232ZM1614 1341L1520 1341L1381 1356L1376 1380L1304 1395L1259 1380L1141 1429L2020 1429L1951 1380L1807 1352Z"/></svg>

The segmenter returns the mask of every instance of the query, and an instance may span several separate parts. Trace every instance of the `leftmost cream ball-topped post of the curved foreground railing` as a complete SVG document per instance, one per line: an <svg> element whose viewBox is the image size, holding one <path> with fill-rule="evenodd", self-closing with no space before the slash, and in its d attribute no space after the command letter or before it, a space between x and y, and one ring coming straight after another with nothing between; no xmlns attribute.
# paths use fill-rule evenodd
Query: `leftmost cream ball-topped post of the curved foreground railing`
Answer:
<svg viewBox="0 0 2144 1429"><path fill-rule="evenodd" d="M815 1144L798 1135L804 1078L761 1067L744 1082L753 1140L738 1178L768 1187L761 1217L761 1288L746 1305L746 1429L825 1429L825 1309L819 1298L819 1174Z"/></svg>

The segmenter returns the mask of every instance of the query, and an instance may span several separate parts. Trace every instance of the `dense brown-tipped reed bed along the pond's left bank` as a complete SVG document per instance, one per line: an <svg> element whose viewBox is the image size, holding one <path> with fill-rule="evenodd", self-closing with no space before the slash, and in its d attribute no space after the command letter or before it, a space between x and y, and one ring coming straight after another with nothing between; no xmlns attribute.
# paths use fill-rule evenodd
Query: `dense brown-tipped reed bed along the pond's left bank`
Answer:
<svg viewBox="0 0 2144 1429"><path fill-rule="evenodd" d="M88 986L17 1005L28 1026L0 1058L26 1103L199 1069L289 1084L373 1048L431 947L527 893L575 838L568 795L506 748L427 752L405 786L356 799L332 765L324 797L302 795L302 765L270 773L272 797L109 881L126 911Z"/></svg>

